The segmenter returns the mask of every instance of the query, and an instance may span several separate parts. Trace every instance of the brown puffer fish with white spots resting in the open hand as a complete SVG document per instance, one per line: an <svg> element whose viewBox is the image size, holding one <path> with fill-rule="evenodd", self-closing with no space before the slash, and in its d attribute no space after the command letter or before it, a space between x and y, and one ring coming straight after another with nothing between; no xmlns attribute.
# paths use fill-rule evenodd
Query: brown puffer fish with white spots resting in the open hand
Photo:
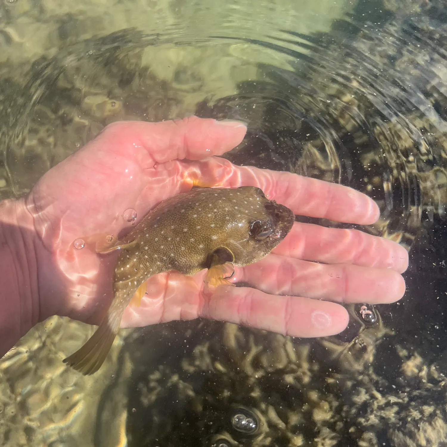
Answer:
<svg viewBox="0 0 447 447"><path fill-rule="evenodd" d="M127 305L139 302L152 275L208 269L207 287L233 285L234 266L259 261L291 230L294 213L268 200L255 186L193 188L160 202L122 240L99 250L119 249L114 299L96 332L63 361L84 375L104 362Z"/></svg>

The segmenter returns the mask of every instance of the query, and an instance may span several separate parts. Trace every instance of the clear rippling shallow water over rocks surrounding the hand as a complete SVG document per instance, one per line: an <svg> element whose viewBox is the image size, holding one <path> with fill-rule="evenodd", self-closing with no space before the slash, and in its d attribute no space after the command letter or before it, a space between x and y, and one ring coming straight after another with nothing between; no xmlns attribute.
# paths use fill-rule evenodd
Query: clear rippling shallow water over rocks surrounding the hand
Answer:
<svg viewBox="0 0 447 447"><path fill-rule="evenodd" d="M337 337L176 322L123 331L95 378L61 363L92 329L53 318L0 363L2 445L446 445L446 6L3 2L0 198L109 122L237 118L230 160L365 192L362 229L410 267L400 303L353 306Z"/></svg>

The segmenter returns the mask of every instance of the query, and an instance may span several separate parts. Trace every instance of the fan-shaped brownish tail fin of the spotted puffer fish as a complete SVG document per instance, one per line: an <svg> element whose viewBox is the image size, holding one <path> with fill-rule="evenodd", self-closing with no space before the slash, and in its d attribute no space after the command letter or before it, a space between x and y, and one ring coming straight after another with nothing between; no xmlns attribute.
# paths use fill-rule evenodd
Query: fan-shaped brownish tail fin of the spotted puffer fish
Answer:
<svg viewBox="0 0 447 447"><path fill-rule="evenodd" d="M90 375L98 371L104 363L107 354L119 330L120 319L109 320L105 316L96 332L74 354L63 360L76 371Z"/></svg>

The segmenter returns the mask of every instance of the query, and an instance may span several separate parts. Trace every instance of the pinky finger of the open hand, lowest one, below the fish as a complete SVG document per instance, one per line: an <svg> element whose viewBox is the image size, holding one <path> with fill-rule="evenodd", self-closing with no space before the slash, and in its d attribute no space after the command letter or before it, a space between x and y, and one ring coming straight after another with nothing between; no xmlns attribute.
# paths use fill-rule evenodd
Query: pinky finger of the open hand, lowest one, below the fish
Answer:
<svg viewBox="0 0 447 447"><path fill-rule="evenodd" d="M342 332L349 320L346 309L336 303L231 286L219 287L199 313L294 337L334 335Z"/></svg>

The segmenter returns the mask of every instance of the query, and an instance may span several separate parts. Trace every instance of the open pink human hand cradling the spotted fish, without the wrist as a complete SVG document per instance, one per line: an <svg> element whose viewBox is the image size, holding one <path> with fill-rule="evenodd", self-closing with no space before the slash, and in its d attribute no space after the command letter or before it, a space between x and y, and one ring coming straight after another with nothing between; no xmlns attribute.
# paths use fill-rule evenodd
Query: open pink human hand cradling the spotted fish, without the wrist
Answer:
<svg viewBox="0 0 447 447"><path fill-rule="evenodd" d="M111 299L118 253L98 255L74 241L130 230L157 203L190 190L191 178L223 187L252 185L295 214L358 224L379 209L350 188L250 167L220 157L244 138L240 123L196 117L159 123L116 122L47 172L25 199L39 243L40 319L57 314L99 324ZM192 160L192 161L189 161ZM256 264L236 268L233 282L203 293L205 272L148 280L148 295L128 307L122 327L177 319L214 318L300 337L342 331L348 314L337 303L400 299L408 254L398 244L356 230L296 223L283 242Z"/></svg>

